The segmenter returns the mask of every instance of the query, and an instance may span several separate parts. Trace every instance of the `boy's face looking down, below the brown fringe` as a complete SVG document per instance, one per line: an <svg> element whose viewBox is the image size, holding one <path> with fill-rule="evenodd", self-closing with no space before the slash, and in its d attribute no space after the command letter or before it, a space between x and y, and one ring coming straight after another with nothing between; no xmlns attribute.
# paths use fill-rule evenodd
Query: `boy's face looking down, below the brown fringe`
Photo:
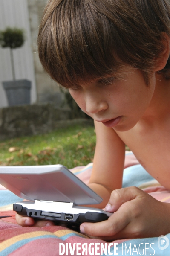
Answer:
<svg viewBox="0 0 170 256"><path fill-rule="evenodd" d="M155 76L147 87L141 71L133 69L122 80L116 81L108 76L81 84L69 92L79 107L94 120L114 127L116 131L127 131L144 115L154 89Z"/></svg>

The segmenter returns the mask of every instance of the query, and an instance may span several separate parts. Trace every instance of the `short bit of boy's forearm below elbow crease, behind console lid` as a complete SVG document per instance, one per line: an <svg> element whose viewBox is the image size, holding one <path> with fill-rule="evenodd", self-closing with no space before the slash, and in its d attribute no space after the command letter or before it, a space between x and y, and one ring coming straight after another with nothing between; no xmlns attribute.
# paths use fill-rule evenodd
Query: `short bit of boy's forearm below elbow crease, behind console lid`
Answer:
<svg viewBox="0 0 170 256"><path fill-rule="evenodd" d="M99 196L101 196L101 198L103 198L103 201L100 204L90 204L88 205L88 207L94 207L94 208L100 208L100 209L104 208L109 201L112 190L98 183L89 183L88 186L93 191L95 191Z"/></svg>

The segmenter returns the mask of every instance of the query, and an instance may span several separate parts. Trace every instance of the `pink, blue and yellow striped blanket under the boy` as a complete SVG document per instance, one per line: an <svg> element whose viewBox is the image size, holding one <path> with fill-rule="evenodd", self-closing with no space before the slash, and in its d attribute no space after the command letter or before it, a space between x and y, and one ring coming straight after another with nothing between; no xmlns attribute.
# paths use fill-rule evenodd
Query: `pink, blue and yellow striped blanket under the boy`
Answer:
<svg viewBox="0 0 170 256"><path fill-rule="evenodd" d="M72 172L88 183L92 163L76 167ZM170 202L170 191L151 177L131 152L126 154L123 187L138 186L154 198ZM58 256L58 255L157 255L169 256L170 234L163 238L126 239L106 243L89 239L66 227L21 227L15 221L12 204L20 201L0 185L0 256Z"/></svg>

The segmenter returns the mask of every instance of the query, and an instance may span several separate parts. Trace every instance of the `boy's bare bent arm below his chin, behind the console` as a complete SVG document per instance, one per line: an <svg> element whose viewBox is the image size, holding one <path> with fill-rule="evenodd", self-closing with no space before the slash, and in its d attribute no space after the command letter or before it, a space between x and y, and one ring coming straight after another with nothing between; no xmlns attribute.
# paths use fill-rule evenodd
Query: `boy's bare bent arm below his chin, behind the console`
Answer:
<svg viewBox="0 0 170 256"><path fill-rule="evenodd" d="M112 128L95 121L96 148L88 186L103 198L90 207L104 208L111 192L122 186L125 145Z"/></svg>

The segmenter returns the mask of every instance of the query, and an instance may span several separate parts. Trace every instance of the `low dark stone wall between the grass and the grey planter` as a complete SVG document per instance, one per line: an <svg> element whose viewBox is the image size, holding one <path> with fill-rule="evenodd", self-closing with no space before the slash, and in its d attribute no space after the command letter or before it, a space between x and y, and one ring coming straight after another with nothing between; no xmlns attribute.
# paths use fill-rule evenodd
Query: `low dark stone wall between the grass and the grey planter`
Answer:
<svg viewBox="0 0 170 256"><path fill-rule="evenodd" d="M53 104L25 105L0 109L0 140L43 134L74 124L93 125L81 110L56 108Z"/></svg>

